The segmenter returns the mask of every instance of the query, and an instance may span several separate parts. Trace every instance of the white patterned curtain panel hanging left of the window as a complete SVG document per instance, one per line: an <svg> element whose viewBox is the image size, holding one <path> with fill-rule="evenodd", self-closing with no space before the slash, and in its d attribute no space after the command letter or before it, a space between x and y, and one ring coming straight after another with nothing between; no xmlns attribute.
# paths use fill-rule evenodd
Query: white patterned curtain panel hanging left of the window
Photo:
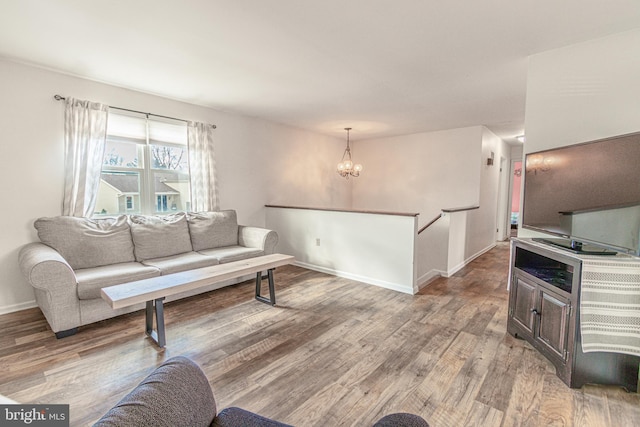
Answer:
<svg viewBox="0 0 640 427"><path fill-rule="evenodd" d="M108 106L97 102L65 100L63 215L93 215L106 144L107 110Z"/></svg>

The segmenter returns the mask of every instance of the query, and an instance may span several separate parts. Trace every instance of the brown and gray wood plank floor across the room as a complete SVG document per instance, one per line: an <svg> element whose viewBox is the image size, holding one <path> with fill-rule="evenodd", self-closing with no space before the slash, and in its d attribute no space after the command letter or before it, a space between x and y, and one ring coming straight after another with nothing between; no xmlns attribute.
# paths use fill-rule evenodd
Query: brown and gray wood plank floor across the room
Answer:
<svg viewBox="0 0 640 427"><path fill-rule="evenodd" d="M39 309L0 316L0 393L69 403L88 425L163 360L194 359L219 408L240 406L298 426L371 425L391 412L432 426L637 426L640 395L572 390L506 333L508 245L454 277L405 295L287 266L278 306L254 284L165 306L167 348L132 313L57 340Z"/></svg>

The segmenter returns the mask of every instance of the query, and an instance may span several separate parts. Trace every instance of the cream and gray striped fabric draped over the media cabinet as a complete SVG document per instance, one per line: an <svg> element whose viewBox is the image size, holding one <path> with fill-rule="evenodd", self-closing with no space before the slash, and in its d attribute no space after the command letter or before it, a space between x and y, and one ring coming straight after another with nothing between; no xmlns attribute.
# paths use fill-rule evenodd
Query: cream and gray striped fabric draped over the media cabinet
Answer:
<svg viewBox="0 0 640 427"><path fill-rule="evenodd" d="M582 351L640 356L640 259L580 258Z"/></svg>

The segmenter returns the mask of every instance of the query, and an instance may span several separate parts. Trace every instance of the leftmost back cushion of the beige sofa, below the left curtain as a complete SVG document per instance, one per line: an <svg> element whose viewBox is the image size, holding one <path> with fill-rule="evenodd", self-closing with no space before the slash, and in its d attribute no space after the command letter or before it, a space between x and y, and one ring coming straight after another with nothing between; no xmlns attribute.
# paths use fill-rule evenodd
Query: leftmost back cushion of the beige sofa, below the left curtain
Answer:
<svg viewBox="0 0 640 427"><path fill-rule="evenodd" d="M40 218L34 227L40 241L58 251L74 270L135 261L125 215L105 219Z"/></svg>

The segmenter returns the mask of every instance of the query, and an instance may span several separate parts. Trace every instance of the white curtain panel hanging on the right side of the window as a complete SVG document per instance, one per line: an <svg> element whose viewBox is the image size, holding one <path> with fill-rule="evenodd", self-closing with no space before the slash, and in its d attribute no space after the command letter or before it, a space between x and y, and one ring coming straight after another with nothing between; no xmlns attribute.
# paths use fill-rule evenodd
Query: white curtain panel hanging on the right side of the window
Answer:
<svg viewBox="0 0 640 427"><path fill-rule="evenodd" d="M198 122L189 122L187 126L191 210L194 212L219 210L213 129L213 125Z"/></svg>

